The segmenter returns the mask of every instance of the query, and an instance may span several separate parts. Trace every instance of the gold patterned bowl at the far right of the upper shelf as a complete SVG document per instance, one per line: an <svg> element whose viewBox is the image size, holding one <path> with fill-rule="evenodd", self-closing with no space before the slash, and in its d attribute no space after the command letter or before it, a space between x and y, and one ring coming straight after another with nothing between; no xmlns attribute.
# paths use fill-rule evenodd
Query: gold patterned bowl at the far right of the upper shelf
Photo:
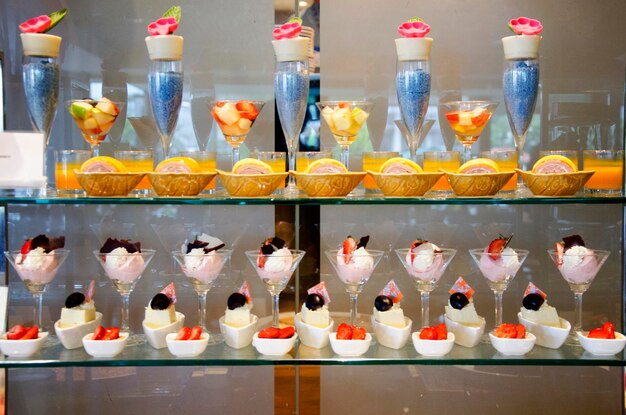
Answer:
<svg viewBox="0 0 626 415"><path fill-rule="evenodd" d="M516 171L535 196L574 196L595 173L594 170L555 174L536 174L519 169Z"/></svg>

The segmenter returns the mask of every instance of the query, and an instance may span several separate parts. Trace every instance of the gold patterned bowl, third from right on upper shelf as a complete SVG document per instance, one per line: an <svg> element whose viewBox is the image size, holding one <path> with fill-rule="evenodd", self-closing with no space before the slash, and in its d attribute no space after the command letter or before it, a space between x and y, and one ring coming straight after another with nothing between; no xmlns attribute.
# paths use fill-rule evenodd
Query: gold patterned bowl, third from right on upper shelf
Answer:
<svg viewBox="0 0 626 415"><path fill-rule="evenodd" d="M443 172L424 173L377 173L371 170L367 174L374 178L376 185L385 196L423 196L443 176Z"/></svg>

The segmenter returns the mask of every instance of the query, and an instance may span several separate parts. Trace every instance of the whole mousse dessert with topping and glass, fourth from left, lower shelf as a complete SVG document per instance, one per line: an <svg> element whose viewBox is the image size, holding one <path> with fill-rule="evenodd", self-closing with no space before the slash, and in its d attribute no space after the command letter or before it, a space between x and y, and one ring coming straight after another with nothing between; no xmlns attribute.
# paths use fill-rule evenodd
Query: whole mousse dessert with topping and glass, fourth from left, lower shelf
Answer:
<svg viewBox="0 0 626 415"><path fill-rule="evenodd" d="M279 297L296 270L304 251L287 248L287 243L274 236L263 241L258 251L246 251L246 257L272 296L272 326L278 321Z"/></svg>

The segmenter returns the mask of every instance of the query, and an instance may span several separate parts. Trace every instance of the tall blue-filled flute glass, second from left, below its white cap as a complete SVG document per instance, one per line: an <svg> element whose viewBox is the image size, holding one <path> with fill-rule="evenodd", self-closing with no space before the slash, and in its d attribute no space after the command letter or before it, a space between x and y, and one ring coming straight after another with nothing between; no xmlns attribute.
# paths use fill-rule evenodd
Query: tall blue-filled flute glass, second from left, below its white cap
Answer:
<svg viewBox="0 0 626 415"><path fill-rule="evenodd" d="M161 137L163 158L168 158L172 134L178 122L178 113L183 103L182 60L150 60L148 91L152 115Z"/></svg>

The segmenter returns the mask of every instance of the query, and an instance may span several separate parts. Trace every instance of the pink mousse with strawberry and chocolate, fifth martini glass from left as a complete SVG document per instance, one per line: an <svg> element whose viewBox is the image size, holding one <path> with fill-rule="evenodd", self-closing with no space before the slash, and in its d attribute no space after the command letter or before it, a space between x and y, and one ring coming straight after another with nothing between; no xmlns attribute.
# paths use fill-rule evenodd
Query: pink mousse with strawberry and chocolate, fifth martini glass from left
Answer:
<svg viewBox="0 0 626 415"><path fill-rule="evenodd" d="M364 236L357 242L348 236L343 241L343 249L337 252L337 275L344 284L359 284L374 270L374 258L365 249L369 240Z"/></svg>

